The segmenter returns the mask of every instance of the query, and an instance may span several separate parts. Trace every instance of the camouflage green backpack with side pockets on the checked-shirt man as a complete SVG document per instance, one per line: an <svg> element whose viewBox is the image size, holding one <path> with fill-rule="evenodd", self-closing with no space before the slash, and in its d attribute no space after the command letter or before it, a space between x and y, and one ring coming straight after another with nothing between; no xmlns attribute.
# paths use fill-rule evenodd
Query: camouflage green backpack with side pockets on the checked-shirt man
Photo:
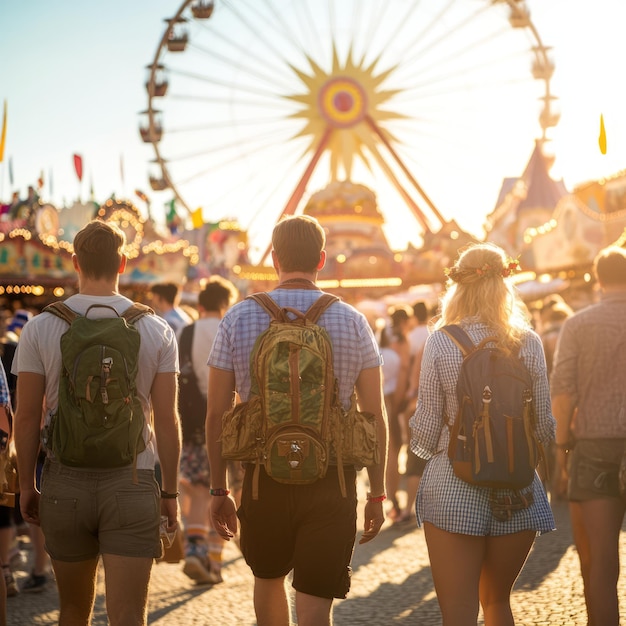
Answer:
<svg viewBox="0 0 626 626"><path fill-rule="evenodd" d="M270 315L250 354L250 400L222 419L222 456L255 463L253 498L262 464L268 476L287 484L309 484L343 465L378 462L374 417L341 407L332 344L319 316L338 298L322 294L302 313L279 307L266 293L248 296Z"/></svg>

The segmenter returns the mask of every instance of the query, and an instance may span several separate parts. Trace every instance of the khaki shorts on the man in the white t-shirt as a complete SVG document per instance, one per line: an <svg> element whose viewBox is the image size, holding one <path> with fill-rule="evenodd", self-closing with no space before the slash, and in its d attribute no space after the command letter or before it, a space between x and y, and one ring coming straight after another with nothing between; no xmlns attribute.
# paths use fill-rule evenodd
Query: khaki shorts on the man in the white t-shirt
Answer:
<svg viewBox="0 0 626 626"><path fill-rule="evenodd" d="M152 470L84 469L46 461L39 514L46 551L57 561L99 554L158 558L160 492Z"/></svg>

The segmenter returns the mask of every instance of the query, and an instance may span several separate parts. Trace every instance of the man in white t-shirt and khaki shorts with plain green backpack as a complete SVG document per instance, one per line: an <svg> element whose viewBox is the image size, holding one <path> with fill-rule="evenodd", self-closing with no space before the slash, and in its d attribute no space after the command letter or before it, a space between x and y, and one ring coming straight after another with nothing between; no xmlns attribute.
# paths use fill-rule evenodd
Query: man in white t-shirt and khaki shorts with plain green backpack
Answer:
<svg viewBox="0 0 626 626"><path fill-rule="evenodd" d="M144 626L161 516L168 532L178 526L176 339L167 322L119 293L124 244L124 233L100 220L79 231L72 257L79 293L65 301L64 316L55 309L29 322L13 365L20 505L24 519L42 527L61 625L90 623L102 556L109 623ZM116 342L111 327L127 341ZM101 354L95 366L94 354ZM39 493L42 408L48 458Z"/></svg>

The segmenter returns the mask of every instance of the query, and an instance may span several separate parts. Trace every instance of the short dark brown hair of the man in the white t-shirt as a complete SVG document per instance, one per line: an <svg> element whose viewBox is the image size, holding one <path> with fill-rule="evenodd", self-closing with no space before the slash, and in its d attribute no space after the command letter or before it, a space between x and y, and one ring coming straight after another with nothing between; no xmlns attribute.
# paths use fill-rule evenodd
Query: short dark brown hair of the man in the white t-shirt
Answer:
<svg viewBox="0 0 626 626"><path fill-rule="evenodd" d="M115 224L92 220L74 237L74 254L88 278L114 278L119 273L126 235Z"/></svg>

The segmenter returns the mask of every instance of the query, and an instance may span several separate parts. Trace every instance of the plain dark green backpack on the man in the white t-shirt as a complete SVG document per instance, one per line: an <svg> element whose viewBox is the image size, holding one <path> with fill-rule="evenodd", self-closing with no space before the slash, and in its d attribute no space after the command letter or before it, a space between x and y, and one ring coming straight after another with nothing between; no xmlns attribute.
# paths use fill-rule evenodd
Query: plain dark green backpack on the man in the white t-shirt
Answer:
<svg viewBox="0 0 626 626"><path fill-rule="evenodd" d="M44 443L72 467L135 465L145 449L145 417L136 378L141 337L134 323L154 312L134 303L122 315L89 318L63 302L44 309L70 327L61 337L59 399Z"/></svg>

